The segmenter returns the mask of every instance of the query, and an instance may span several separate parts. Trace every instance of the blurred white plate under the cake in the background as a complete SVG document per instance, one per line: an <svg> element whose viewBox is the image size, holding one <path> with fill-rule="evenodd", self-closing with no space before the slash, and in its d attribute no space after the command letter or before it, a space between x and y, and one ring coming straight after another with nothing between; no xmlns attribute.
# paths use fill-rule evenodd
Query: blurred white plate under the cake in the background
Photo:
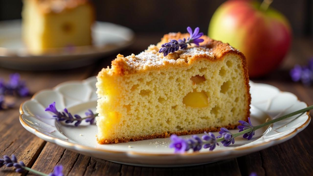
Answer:
<svg viewBox="0 0 313 176"><path fill-rule="evenodd" d="M131 29L96 22L92 27L92 46L51 49L49 54L32 55L21 39L21 20L0 22L0 66L19 70L60 70L89 65L129 46L134 40Z"/></svg>

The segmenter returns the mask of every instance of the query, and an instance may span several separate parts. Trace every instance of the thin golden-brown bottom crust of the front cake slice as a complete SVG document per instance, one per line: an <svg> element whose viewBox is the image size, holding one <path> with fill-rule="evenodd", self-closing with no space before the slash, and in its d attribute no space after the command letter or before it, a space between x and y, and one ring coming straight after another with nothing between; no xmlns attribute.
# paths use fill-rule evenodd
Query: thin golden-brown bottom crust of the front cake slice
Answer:
<svg viewBox="0 0 313 176"><path fill-rule="evenodd" d="M227 125L224 126L227 129L234 129L237 127L236 125ZM111 144L111 143L120 143L120 142L130 142L130 141L142 141L146 139L155 139L155 138L166 138L170 137L172 134L176 134L178 136L181 135L189 135L189 134L200 134L203 132L217 132L219 131L221 127L210 127L210 128L204 128L204 129L198 129L198 130L185 130L180 132L164 132L159 134L152 134L152 135L142 135L142 136L134 136L134 137L123 137L123 138L116 138L116 139L98 139L97 142L99 144Z"/></svg>

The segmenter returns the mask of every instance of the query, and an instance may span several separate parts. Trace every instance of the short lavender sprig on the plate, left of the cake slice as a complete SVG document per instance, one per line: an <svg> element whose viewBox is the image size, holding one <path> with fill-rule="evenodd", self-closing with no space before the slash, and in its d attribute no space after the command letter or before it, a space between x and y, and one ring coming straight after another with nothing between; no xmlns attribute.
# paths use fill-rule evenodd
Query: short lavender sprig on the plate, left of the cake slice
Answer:
<svg viewBox="0 0 313 176"><path fill-rule="evenodd" d="M95 117L98 116L98 113L94 114L90 109L85 112L86 117L82 118L81 116L75 114L74 116L66 109L64 108L64 112L59 112L55 107L55 102L51 103L45 111L50 111L54 113L53 117L57 121L65 121L65 123L74 123L75 127L79 126L80 123L85 120L85 122L90 122L90 124L93 124L95 121Z"/></svg>

